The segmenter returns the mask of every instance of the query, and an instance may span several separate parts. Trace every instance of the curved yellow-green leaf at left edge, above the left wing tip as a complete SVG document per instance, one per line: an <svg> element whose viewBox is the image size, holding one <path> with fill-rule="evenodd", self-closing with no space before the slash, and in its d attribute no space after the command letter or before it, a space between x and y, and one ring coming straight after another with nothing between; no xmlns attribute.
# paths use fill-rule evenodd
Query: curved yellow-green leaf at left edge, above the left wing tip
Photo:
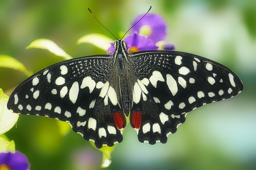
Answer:
<svg viewBox="0 0 256 170"><path fill-rule="evenodd" d="M20 63L20 61L10 57L8 55L0 55L0 67L12 68L24 72L28 77L32 75L32 72L28 71L26 67Z"/></svg>

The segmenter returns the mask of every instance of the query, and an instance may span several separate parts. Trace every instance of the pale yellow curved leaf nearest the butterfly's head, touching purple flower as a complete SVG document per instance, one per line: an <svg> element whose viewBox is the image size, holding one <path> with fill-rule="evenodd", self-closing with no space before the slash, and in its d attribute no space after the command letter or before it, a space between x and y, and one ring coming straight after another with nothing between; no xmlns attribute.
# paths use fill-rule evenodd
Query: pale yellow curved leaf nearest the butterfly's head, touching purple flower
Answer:
<svg viewBox="0 0 256 170"><path fill-rule="evenodd" d="M82 36L80 39L77 40L78 44L90 43L104 51L108 51L108 48L110 47L110 43L113 43L113 42L114 40L112 40L111 38L99 33L90 33Z"/></svg>

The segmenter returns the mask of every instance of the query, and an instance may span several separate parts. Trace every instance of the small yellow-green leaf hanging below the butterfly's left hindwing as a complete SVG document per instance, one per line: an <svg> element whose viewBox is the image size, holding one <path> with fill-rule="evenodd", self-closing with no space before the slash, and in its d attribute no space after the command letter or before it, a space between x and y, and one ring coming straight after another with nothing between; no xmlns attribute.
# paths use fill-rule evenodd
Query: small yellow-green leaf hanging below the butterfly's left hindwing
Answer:
<svg viewBox="0 0 256 170"><path fill-rule="evenodd" d="M90 144L96 148L95 144L90 141ZM111 164L111 153L113 152L114 148L116 147L116 144L113 147L103 146L102 148L98 149L100 152L102 152L102 163L100 165L101 168L108 168Z"/></svg>

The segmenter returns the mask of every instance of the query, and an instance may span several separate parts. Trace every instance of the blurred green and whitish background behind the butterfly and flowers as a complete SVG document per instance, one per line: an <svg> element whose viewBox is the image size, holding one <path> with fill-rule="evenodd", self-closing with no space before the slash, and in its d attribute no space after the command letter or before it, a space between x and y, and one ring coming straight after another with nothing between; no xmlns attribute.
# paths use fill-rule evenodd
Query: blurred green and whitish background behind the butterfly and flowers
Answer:
<svg viewBox="0 0 256 170"><path fill-rule="evenodd" d="M119 35L150 5L168 24L166 41L177 51L228 66L244 82L244 91L192 111L164 145L139 143L128 125L107 169L255 170L255 0L0 0L0 54L15 57L33 72L61 60L45 50L25 50L35 39L51 39L73 57L104 54L90 44L76 45L88 33L113 38L87 8ZM25 78L0 68L0 88L7 93ZM100 169L102 154L73 131L62 135L54 119L21 115L6 135L26 154L31 170Z"/></svg>

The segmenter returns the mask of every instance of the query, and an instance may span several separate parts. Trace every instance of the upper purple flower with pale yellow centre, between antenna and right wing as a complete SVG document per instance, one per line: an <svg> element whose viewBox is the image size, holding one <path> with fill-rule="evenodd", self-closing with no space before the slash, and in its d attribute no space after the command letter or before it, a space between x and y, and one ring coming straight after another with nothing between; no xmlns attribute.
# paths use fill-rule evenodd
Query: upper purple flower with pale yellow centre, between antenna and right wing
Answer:
<svg viewBox="0 0 256 170"><path fill-rule="evenodd" d="M134 25L138 20L142 18L144 14L135 18L132 22ZM139 21L131 29L132 33L138 33L152 39L155 43L165 40L167 35L167 27L164 19L156 14L148 13L141 21Z"/></svg>

